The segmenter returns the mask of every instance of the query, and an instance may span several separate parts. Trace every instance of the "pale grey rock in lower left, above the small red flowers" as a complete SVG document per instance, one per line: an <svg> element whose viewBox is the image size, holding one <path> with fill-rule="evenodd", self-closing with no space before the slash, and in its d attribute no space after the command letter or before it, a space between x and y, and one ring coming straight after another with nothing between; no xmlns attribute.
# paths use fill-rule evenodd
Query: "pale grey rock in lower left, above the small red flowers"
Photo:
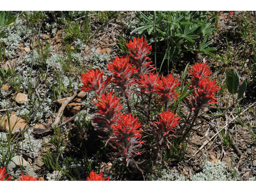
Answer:
<svg viewBox="0 0 256 192"><path fill-rule="evenodd" d="M22 171L21 171L21 167L22 167ZM13 157L8 163L6 170L7 172L9 172L10 175L13 175L14 179L20 178L22 173L24 175L29 174L33 177L37 177L36 173L33 171L33 167L21 156Z"/></svg>

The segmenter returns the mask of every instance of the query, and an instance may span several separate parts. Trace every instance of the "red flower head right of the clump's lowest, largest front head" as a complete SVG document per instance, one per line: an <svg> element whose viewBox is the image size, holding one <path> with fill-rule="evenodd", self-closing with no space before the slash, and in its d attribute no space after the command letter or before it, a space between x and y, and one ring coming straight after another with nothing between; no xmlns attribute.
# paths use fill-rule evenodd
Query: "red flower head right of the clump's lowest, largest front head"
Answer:
<svg viewBox="0 0 256 192"><path fill-rule="evenodd" d="M174 114L174 112L170 112L170 109L166 112L159 113L159 115L159 122L152 123L153 125L157 126L155 129L156 132L161 132L163 134L162 136L173 136L170 135L169 132L174 132L172 128L177 126L179 122L178 120L181 118Z"/></svg>

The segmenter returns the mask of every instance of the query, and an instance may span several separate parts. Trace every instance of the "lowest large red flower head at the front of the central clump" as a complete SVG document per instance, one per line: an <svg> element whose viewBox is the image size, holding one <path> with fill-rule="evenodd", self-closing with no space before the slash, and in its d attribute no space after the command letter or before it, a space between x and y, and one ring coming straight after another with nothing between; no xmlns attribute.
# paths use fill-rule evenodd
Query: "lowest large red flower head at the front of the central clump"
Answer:
<svg viewBox="0 0 256 192"><path fill-rule="evenodd" d="M138 118L130 114L122 114L118 119L117 123L111 125L114 135L109 139L115 143L115 147L118 146L128 160L132 154L139 154L135 151L135 148L141 146L143 143L141 138L141 127Z"/></svg>

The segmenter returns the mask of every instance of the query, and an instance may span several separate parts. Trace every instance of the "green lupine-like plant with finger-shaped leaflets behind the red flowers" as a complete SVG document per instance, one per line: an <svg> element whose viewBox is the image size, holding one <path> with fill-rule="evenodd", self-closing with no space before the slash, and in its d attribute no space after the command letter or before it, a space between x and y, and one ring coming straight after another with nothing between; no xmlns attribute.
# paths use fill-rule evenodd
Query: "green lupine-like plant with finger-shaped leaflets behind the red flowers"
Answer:
<svg viewBox="0 0 256 192"><path fill-rule="evenodd" d="M204 11L146 11L136 14L140 27L132 33L144 34L154 46L154 64L161 71L163 63L176 67L183 53L197 51L208 56L216 48L209 47L216 32ZM161 54L162 53L162 54ZM156 58L160 58L160 61Z"/></svg>

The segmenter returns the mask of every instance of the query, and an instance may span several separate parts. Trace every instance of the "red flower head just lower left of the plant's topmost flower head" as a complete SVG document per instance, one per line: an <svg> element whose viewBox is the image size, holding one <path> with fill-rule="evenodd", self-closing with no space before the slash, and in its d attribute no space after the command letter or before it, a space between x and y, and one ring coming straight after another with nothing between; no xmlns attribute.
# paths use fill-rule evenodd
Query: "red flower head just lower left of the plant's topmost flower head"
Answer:
<svg viewBox="0 0 256 192"><path fill-rule="evenodd" d="M112 82L124 93L135 82L135 79L131 78L131 76L138 71L129 62L129 57L124 56L121 56L121 58L116 56L116 59L111 64L108 64L108 70L113 73Z"/></svg>

